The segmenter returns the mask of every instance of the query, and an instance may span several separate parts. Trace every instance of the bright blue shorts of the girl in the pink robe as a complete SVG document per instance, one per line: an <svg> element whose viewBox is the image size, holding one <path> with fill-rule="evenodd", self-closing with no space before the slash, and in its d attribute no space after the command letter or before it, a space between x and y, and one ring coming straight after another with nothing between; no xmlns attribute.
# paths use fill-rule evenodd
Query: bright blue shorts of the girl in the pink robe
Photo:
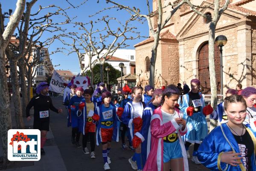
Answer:
<svg viewBox="0 0 256 171"><path fill-rule="evenodd" d="M171 159L181 158L182 151L179 139L175 142L163 142L163 162L169 162Z"/></svg>

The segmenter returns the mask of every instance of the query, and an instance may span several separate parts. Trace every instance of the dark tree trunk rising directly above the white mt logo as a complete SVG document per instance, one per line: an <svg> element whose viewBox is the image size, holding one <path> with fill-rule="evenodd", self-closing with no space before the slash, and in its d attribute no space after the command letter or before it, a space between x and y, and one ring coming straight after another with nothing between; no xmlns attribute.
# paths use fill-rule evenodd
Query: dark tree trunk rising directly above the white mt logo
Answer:
<svg viewBox="0 0 256 171"><path fill-rule="evenodd" d="M9 59L10 62L10 72L12 78L12 100L14 105L14 113L15 113L15 120L17 124L17 129L24 129L23 117L22 117L22 110L21 110L21 102L20 102L20 90L19 90L19 81L18 81L18 74L17 74L17 59L11 57Z"/></svg>

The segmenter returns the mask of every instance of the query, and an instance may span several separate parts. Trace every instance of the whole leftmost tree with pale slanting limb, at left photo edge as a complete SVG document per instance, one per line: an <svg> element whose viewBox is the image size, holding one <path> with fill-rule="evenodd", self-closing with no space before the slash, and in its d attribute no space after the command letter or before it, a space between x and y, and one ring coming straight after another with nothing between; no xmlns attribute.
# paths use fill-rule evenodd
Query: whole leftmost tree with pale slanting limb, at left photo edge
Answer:
<svg viewBox="0 0 256 171"><path fill-rule="evenodd" d="M8 86L5 70L5 50L19 24L20 18L25 9L25 0L17 0L16 9L10 16L7 26L4 26L4 17L0 6L0 135L3 144L3 166L7 165L7 132L12 128L10 99L8 95Z"/></svg>

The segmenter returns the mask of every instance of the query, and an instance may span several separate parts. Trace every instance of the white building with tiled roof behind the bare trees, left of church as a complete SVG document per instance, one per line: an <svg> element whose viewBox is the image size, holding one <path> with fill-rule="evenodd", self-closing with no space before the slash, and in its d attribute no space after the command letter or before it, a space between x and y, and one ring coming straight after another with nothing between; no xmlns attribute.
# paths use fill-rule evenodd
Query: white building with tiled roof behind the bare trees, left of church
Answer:
<svg viewBox="0 0 256 171"><path fill-rule="evenodd" d="M106 52L106 50L102 51L102 55L100 57L102 57L104 55L104 53ZM112 54L109 54L109 56L111 56ZM92 58L92 61L96 60L97 57L94 56ZM109 64L111 64L116 70L121 71L121 68L119 68L119 63L122 62L124 63L124 68L123 68L123 73L124 75L127 74L134 74L135 72L135 50L134 49L117 49L116 52L113 53L112 58L108 58L106 59L106 62L108 62ZM84 55L82 64L84 64L84 66L88 65L88 55ZM89 69L87 69L89 70Z"/></svg>

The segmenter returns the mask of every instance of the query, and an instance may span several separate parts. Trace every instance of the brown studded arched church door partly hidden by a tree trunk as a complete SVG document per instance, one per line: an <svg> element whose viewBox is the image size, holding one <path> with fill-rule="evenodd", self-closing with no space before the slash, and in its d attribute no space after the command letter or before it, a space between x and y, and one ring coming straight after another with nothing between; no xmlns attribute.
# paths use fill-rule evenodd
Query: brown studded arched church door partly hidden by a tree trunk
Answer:
<svg viewBox="0 0 256 171"><path fill-rule="evenodd" d="M220 72L220 50L218 46L214 46L215 50L215 72L217 81L217 93L220 94L221 89L221 72ZM209 48L208 42L206 42L198 54L198 77L201 82L201 86L204 88L204 94L211 94L210 75L209 75Z"/></svg>

